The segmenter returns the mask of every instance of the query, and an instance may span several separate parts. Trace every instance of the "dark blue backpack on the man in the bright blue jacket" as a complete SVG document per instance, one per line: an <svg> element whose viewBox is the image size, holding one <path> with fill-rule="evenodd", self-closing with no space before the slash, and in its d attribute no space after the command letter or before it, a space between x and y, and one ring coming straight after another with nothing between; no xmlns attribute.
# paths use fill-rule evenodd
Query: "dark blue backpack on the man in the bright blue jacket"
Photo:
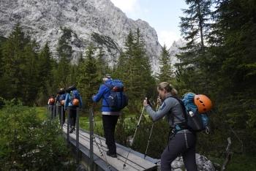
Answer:
<svg viewBox="0 0 256 171"><path fill-rule="evenodd" d="M128 96L124 94L124 85L121 80L113 80L111 84L105 83L105 86L110 88L110 96L108 96L110 110L118 111L124 109L128 105Z"/></svg>

